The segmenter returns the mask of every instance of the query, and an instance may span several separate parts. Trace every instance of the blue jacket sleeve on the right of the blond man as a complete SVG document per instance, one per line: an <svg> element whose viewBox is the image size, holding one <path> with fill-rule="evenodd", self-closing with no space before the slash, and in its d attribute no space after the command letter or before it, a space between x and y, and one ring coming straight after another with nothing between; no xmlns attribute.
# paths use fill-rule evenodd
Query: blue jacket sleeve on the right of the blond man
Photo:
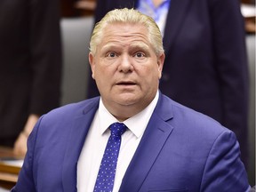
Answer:
<svg viewBox="0 0 256 192"><path fill-rule="evenodd" d="M250 185L233 132L222 132L207 158L200 191L248 191Z"/></svg>

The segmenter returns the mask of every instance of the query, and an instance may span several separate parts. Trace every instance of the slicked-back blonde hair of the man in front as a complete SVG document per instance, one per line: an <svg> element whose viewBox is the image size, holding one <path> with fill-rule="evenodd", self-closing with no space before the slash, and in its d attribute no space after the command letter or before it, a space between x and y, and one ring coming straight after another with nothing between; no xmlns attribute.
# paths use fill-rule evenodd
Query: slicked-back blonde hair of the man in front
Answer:
<svg viewBox="0 0 256 192"><path fill-rule="evenodd" d="M156 55L160 55L164 52L162 35L155 20L134 9L124 8L108 12L100 22L96 23L92 31L90 42L90 52L92 52L93 55L96 53L97 45L101 42L104 28L106 28L108 24L113 23L132 23L145 26L148 28L148 40L154 47Z"/></svg>

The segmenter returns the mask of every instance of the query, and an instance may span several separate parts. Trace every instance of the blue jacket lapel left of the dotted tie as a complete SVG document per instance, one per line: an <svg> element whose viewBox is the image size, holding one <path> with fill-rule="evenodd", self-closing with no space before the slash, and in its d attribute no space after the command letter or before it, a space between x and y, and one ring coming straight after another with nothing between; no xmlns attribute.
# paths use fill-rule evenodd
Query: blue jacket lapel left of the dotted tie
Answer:
<svg viewBox="0 0 256 192"><path fill-rule="evenodd" d="M84 114L74 118L73 126L67 140L67 150L63 159L62 182L65 192L76 191L76 168L78 158L84 146L84 140L89 131L99 101L85 106Z"/></svg>

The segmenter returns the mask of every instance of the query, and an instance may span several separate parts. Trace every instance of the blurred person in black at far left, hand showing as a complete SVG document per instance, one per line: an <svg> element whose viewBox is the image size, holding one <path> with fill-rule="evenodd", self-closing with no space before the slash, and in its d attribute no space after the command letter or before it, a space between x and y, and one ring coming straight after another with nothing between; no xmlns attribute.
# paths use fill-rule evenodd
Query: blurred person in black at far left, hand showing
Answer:
<svg viewBox="0 0 256 192"><path fill-rule="evenodd" d="M58 0L0 1L0 146L25 155L39 116L60 104Z"/></svg>

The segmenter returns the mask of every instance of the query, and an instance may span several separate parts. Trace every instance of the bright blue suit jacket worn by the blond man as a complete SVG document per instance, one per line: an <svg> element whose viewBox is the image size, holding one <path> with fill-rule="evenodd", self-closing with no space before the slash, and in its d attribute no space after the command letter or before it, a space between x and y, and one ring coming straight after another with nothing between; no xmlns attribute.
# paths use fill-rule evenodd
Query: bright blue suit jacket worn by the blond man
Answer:
<svg viewBox="0 0 256 192"><path fill-rule="evenodd" d="M93 98L41 117L12 192L76 191L77 161L98 107ZM120 191L244 192L239 156L233 132L160 93Z"/></svg>

